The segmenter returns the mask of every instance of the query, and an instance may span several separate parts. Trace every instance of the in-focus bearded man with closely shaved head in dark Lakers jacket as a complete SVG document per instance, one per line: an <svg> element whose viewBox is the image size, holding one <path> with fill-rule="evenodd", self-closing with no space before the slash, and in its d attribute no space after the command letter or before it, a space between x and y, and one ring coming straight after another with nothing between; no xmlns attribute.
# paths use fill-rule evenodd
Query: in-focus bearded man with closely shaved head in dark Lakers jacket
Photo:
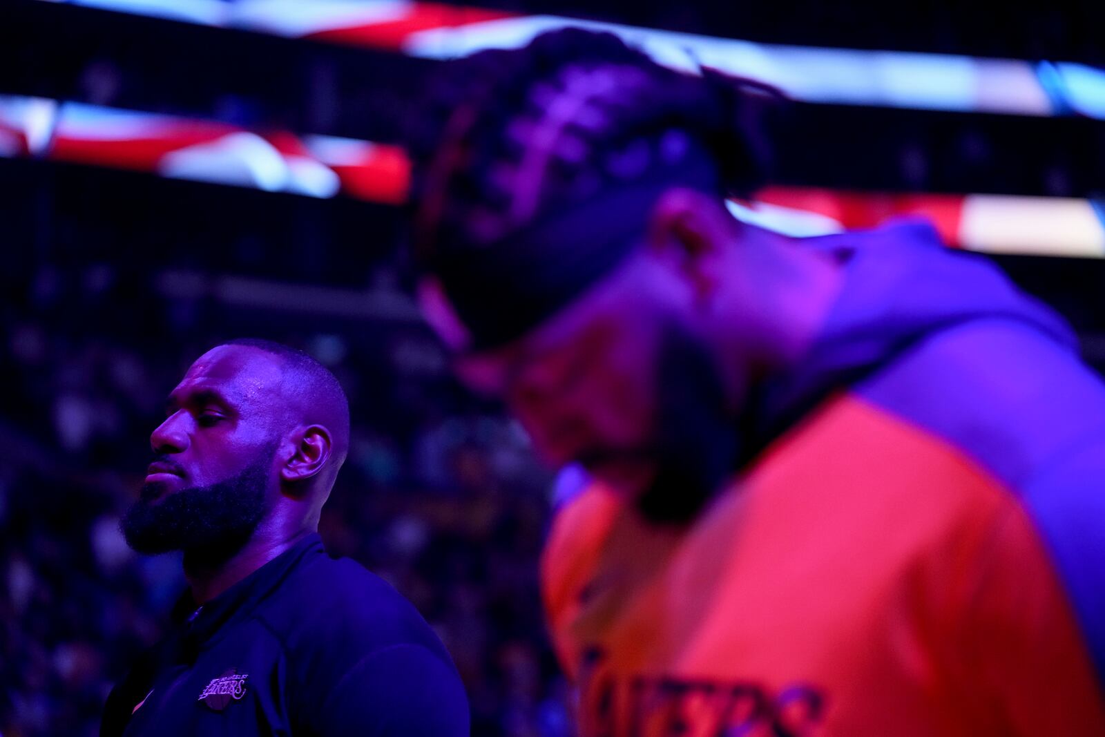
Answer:
<svg viewBox="0 0 1105 737"><path fill-rule="evenodd" d="M183 550L190 591L112 692L101 734L467 735L441 642L316 531L349 444L337 379L238 340L192 364L167 415L123 531L139 552Z"/></svg>

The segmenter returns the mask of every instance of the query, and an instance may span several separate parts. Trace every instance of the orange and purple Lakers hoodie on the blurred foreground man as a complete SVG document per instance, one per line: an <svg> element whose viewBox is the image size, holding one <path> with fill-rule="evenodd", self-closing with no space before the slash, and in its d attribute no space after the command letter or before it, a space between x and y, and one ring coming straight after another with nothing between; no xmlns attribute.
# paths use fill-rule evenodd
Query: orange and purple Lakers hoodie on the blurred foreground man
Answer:
<svg viewBox="0 0 1105 737"><path fill-rule="evenodd" d="M598 484L543 561L586 737L1105 735L1105 387L920 224L846 276L685 526Z"/></svg>

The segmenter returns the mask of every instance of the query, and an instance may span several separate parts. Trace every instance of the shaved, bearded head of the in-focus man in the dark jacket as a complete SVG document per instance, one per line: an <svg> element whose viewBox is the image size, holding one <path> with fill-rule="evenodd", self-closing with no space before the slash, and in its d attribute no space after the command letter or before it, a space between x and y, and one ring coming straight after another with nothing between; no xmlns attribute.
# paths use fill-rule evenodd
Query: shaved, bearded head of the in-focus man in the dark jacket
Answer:
<svg viewBox="0 0 1105 737"><path fill-rule="evenodd" d="M169 393L154 463L125 515L143 552L222 561L264 530L317 529L349 449L349 402L307 354L270 340L215 346Z"/></svg>

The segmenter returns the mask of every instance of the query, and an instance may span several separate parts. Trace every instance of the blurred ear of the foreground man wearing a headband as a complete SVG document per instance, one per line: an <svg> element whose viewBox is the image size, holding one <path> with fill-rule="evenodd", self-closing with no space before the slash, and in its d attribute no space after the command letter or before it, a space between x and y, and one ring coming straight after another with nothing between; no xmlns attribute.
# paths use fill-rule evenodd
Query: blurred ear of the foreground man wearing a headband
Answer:
<svg viewBox="0 0 1105 737"><path fill-rule="evenodd" d="M649 248L687 280L696 301L717 289L725 246L733 238L732 218L718 217L716 197L686 188L660 196L649 222Z"/></svg>

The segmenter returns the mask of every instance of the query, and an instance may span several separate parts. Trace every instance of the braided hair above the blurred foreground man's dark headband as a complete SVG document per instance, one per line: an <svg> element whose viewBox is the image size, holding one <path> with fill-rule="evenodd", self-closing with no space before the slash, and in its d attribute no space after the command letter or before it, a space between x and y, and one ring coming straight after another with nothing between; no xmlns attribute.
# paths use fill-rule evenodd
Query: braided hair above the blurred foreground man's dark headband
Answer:
<svg viewBox="0 0 1105 737"><path fill-rule="evenodd" d="M434 272L460 264L473 282L474 254L499 249L517 262L512 239L611 191L693 183L746 197L762 183L759 120L778 98L760 83L677 72L612 33L572 28L445 64L411 126L415 257ZM603 219L600 210L590 222ZM558 238L525 249L556 250ZM512 267L546 267L526 257ZM569 265L587 271L578 259Z"/></svg>

